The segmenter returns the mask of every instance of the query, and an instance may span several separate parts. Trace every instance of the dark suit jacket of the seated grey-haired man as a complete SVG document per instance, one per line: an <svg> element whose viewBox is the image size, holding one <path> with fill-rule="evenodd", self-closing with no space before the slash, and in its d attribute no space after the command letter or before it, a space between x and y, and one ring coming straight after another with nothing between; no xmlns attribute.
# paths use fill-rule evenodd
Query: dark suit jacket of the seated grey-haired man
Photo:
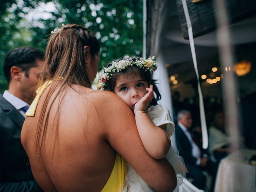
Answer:
<svg viewBox="0 0 256 192"><path fill-rule="evenodd" d="M183 157L185 164L196 165L197 159L192 156L192 145L178 124L175 125L175 136L179 155Z"/></svg>

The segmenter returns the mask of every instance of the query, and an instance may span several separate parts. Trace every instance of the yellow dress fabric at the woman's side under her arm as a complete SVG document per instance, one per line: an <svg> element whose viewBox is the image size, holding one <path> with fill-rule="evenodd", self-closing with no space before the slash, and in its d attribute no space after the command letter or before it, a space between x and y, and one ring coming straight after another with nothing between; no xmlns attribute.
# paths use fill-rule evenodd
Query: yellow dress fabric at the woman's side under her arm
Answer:
<svg viewBox="0 0 256 192"><path fill-rule="evenodd" d="M126 179L126 161L116 154L114 168L101 192L121 192Z"/></svg>

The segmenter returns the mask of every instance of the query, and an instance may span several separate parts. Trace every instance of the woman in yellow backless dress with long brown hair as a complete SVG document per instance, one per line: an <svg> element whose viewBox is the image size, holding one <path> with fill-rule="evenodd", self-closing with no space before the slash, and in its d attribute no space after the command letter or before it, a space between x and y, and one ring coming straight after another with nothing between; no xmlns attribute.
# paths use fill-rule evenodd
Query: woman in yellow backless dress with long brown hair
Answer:
<svg viewBox="0 0 256 192"><path fill-rule="evenodd" d="M21 134L36 181L45 191L120 191L127 161L156 191L174 190L174 169L148 155L130 108L111 92L91 89L99 47L75 24L50 37Z"/></svg>

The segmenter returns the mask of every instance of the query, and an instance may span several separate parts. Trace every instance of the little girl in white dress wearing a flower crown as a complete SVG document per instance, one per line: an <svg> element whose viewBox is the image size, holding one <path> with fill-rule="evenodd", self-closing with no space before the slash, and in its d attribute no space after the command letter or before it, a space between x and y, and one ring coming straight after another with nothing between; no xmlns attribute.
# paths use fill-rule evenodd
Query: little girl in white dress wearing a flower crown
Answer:
<svg viewBox="0 0 256 192"><path fill-rule="evenodd" d="M155 159L166 157L174 167L180 185L185 176L184 162L175 146L171 146L174 123L169 110L157 104L161 95L151 78L151 72L156 68L154 56L112 62L98 74L97 88L110 90L126 102L135 114L138 133L146 151ZM151 191L154 190L128 164L123 192Z"/></svg>

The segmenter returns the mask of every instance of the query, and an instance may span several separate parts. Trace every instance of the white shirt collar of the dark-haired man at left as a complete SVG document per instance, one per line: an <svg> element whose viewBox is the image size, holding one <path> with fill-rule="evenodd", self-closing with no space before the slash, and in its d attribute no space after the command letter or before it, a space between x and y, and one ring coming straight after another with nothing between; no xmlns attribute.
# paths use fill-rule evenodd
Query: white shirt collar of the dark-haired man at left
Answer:
<svg viewBox="0 0 256 192"><path fill-rule="evenodd" d="M22 101L20 98L10 94L8 90L4 91L3 98L5 98L10 104L16 108L22 116L25 117L25 112L22 110L23 107L29 107L30 105Z"/></svg>

